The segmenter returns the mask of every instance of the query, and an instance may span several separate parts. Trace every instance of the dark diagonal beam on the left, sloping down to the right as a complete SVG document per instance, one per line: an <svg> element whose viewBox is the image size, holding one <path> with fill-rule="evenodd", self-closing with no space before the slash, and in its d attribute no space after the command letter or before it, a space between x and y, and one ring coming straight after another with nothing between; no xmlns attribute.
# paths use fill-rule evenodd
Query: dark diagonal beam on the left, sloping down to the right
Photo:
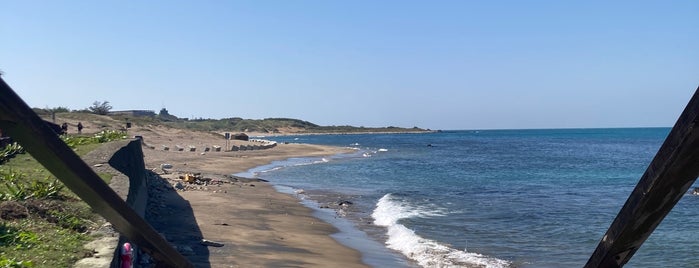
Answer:
<svg viewBox="0 0 699 268"><path fill-rule="evenodd" d="M143 218L132 210L0 78L0 128L19 142L71 191L158 262L158 266L193 267ZM145 172L145 171L144 171Z"/></svg>

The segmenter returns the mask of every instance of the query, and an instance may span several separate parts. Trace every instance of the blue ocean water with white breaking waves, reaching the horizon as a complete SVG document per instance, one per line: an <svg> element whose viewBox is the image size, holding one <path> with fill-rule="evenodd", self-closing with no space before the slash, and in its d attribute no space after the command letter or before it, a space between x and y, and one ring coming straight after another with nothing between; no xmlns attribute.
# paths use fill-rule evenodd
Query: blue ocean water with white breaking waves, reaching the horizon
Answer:
<svg viewBox="0 0 699 268"><path fill-rule="evenodd" d="M298 196L374 267L581 267L669 131L265 137L356 150L237 175ZM626 267L699 266L697 228L687 193Z"/></svg>

